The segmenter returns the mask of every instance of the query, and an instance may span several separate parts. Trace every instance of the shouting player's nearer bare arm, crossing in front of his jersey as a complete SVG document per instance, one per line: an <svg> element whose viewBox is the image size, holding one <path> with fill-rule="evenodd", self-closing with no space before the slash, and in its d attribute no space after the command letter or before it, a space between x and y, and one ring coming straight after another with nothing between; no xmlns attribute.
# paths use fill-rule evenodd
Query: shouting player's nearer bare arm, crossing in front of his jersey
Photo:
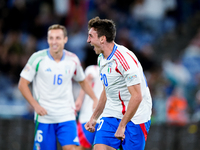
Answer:
<svg viewBox="0 0 200 150"><path fill-rule="evenodd" d="M131 94L131 98L127 107L127 111L124 114L118 129L115 133L115 137L119 140L123 140L125 138L124 131L127 123L131 120L131 118L135 115L141 101L142 101L142 93L140 89L140 84L129 86L128 90Z"/></svg>

